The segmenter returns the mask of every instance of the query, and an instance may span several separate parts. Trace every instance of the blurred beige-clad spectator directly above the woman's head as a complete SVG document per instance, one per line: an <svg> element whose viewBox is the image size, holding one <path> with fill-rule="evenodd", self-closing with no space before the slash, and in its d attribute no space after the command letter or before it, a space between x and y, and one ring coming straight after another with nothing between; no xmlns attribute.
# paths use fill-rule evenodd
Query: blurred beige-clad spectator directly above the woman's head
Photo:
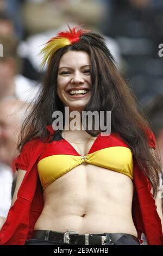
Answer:
<svg viewBox="0 0 163 256"><path fill-rule="evenodd" d="M22 19L27 34L58 29L73 22L94 28L106 15L104 2L97 0L42 0L26 1L22 8Z"/></svg>

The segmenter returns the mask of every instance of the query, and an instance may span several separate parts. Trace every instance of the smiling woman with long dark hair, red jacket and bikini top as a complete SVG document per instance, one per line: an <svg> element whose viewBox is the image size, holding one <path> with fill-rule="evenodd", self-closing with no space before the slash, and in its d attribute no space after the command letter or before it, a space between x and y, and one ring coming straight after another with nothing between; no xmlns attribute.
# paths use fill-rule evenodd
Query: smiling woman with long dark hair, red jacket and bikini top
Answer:
<svg viewBox="0 0 163 256"><path fill-rule="evenodd" d="M1 244L139 245L146 235L149 245L161 245L154 136L103 38L68 28L42 54L48 69L23 126ZM57 130L53 117L65 117L64 107L80 118L83 111L111 111L111 134L87 129L90 119L74 130L72 117L68 129L57 121Z"/></svg>

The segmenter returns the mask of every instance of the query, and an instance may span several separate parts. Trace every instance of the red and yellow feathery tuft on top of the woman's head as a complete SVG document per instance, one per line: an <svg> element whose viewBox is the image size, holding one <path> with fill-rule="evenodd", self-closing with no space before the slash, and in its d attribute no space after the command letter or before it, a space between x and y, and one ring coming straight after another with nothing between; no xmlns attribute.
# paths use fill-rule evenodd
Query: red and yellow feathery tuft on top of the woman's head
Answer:
<svg viewBox="0 0 163 256"><path fill-rule="evenodd" d="M58 49L67 45L72 45L75 42L79 42L80 36L88 32L90 31L80 27L70 28L69 26L67 31L58 32L57 36L54 36L52 39L50 39L46 43L46 46L42 48L40 52L40 55L43 55L41 66L43 67L46 62L49 64L52 54Z"/></svg>

